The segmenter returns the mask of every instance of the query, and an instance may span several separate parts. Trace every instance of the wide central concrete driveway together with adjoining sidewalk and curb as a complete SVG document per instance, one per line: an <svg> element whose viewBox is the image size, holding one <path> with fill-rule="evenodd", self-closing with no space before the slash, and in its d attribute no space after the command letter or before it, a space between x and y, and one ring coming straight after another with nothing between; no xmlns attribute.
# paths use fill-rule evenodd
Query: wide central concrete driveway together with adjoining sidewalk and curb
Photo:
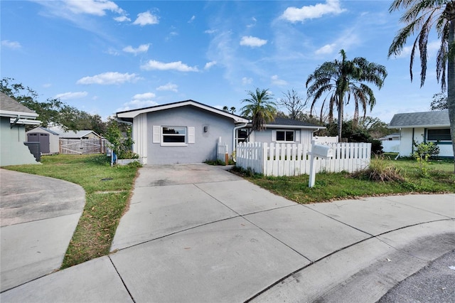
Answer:
<svg viewBox="0 0 455 303"><path fill-rule="evenodd" d="M111 255L0 299L376 302L455 249L454 219L453 193L299 205L218 166L144 166Z"/></svg>

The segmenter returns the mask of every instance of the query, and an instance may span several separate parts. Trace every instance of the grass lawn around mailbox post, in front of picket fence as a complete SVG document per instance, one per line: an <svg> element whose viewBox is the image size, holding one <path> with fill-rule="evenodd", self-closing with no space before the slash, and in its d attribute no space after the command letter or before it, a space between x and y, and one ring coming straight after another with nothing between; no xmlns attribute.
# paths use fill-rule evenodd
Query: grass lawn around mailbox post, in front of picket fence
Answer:
<svg viewBox="0 0 455 303"><path fill-rule="evenodd" d="M365 196L386 196L405 193L454 193L455 174L453 161L429 161L428 174L422 171L416 161L382 159L375 164L382 171L379 178L370 178L371 171L353 178L348 173L316 174L313 188L308 187L309 176L261 176L242 174L245 179L272 193L284 196L297 203L315 203ZM374 173L376 174L376 173ZM389 179L386 176L393 176ZM382 179L382 181L373 181Z"/></svg>

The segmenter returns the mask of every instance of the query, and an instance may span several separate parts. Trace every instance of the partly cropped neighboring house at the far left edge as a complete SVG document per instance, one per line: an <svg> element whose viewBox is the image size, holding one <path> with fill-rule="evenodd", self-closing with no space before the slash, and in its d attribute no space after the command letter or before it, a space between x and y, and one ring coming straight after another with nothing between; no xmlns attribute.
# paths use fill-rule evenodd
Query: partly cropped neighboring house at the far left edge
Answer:
<svg viewBox="0 0 455 303"><path fill-rule="evenodd" d="M26 142L26 125L39 125L38 114L0 92L0 166L36 164ZM39 152L38 152L39 156Z"/></svg>

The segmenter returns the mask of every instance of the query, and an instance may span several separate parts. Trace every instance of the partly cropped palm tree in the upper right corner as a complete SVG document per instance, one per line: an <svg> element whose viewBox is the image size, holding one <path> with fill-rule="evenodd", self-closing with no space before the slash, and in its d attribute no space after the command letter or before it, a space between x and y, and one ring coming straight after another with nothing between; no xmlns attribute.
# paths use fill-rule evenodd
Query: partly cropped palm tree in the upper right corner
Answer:
<svg viewBox="0 0 455 303"><path fill-rule="evenodd" d="M395 0L389 11L405 9L400 21L406 26L398 31L389 48L389 57L399 55L410 36L415 36L412 45L410 74L412 81L412 64L415 50L420 56L420 86L425 83L427 75L427 43L432 28L436 28L441 39L437 60L436 78L441 81L441 91L447 90L449 107L450 134L455 159L455 1L453 0ZM447 81L447 83L446 83ZM455 162L454 162L455 163ZM454 164L455 171L455 164Z"/></svg>

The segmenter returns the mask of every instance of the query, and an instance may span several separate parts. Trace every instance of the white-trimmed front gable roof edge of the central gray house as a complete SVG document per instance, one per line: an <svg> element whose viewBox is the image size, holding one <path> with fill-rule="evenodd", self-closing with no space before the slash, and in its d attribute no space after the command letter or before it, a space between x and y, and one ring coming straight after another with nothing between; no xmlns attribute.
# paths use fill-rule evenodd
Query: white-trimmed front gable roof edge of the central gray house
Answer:
<svg viewBox="0 0 455 303"><path fill-rule="evenodd" d="M180 102L168 103L168 104L164 104L164 105L144 107L144 108L139 108L137 110L126 110L123 112L117 112L117 117L120 119L131 120L132 118L137 117L138 115L144 114L146 112L157 112L159 110L168 110L171 108L177 108L177 107L183 107L183 106L198 107L201 110L207 110L208 112L213 112L217 115L222 115L224 117L234 119L235 122L239 122L239 123L247 123L249 121L248 119L245 119L244 117L240 117L240 116L231 114L230 112L225 112L223 110L218 110L218 108L211 107L211 106L202 104L200 102L196 102L194 100L185 100L185 101L180 101Z"/></svg>

